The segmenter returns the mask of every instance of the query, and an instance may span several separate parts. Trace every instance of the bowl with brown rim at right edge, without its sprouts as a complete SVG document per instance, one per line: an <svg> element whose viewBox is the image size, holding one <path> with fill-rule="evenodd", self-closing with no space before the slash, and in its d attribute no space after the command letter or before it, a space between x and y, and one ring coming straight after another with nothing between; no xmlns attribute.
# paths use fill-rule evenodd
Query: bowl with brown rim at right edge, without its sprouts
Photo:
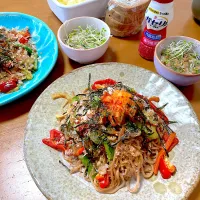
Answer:
<svg viewBox="0 0 200 200"><path fill-rule="evenodd" d="M186 40L188 42L193 42L194 44L196 44L195 47L195 52L197 52L200 55L200 41L195 40L193 38L190 37L186 37L186 36L171 36L171 37L167 37L163 40L161 40L155 48L155 52L154 52L154 65L155 68L157 70L157 72L163 76L164 78L166 78L167 80L169 80L170 82L178 85L178 86L187 86L187 85L192 85L198 81L200 81L200 73L199 74L182 74L182 73L178 73L173 71L172 69L166 67L161 61L161 52L162 50L169 46L169 44L172 41L179 41L179 40Z"/></svg>

